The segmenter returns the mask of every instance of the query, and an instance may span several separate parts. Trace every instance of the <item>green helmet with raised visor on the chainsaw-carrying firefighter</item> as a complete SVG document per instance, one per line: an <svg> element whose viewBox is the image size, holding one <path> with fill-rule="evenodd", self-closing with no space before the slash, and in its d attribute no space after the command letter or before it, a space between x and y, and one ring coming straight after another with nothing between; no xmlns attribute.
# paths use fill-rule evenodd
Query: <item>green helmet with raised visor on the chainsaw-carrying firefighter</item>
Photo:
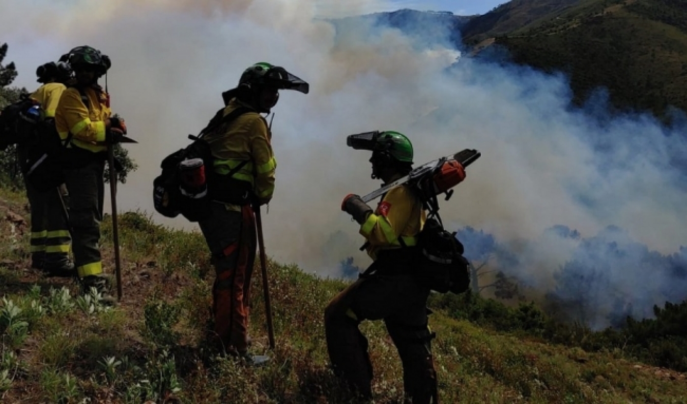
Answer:
<svg viewBox="0 0 687 404"><path fill-rule="evenodd" d="M393 130L351 134L346 144L356 150L384 152L399 163L413 163L413 144L405 134Z"/></svg>

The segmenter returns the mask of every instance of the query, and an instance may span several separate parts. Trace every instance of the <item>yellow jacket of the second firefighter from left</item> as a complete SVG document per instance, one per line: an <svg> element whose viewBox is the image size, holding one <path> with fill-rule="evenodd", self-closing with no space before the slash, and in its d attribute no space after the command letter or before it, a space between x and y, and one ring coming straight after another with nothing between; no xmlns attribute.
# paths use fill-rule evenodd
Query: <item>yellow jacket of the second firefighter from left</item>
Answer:
<svg viewBox="0 0 687 404"><path fill-rule="evenodd" d="M60 139L65 141L69 132L73 134L67 147L79 147L98 153L107 150L105 141L105 121L110 117L108 95L100 86L85 88L88 105L84 104L77 88L69 87L60 97L55 112L55 125Z"/></svg>

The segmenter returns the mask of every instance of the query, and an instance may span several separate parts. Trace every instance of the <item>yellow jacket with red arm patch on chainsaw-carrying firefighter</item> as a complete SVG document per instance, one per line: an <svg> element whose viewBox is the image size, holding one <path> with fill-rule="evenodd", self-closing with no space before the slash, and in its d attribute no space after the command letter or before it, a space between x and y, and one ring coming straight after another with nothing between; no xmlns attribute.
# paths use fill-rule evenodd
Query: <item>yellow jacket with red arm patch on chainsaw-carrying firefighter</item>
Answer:
<svg viewBox="0 0 687 404"><path fill-rule="evenodd" d="M374 213L360 226L360 234L368 239L368 255L376 259L380 250L412 247L417 243L417 235L425 226L427 214L423 203L405 185L398 185L387 192Z"/></svg>

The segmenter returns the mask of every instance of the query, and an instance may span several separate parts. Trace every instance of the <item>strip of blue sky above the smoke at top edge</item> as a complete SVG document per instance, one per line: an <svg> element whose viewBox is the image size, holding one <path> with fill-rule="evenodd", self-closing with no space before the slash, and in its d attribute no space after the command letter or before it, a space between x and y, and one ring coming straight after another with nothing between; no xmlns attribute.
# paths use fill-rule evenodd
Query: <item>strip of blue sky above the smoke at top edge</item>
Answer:
<svg viewBox="0 0 687 404"><path fill-rule="evenodd" d="M484 14L507 0L317 0L317 14L323 17L368 14L401 8L450 11L458 15Z"/></svg>

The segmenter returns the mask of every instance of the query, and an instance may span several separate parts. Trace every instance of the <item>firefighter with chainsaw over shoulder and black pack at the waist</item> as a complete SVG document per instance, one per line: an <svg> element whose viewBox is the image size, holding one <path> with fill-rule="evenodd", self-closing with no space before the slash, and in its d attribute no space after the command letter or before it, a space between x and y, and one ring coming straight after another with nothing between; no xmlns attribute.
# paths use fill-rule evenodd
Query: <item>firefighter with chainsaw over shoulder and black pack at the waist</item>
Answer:
<svg viewBox="0 0 687 404"><path fill-rule="evenodd" d="M462 182L464 165L474 161L479 152L464 150L455 159L413 169L413 146L401 133L366 132L348 136L347 143L357 150L372 151L372 178L379 178L385 186L363 198L349 194L341 204L341 210L360 224L360 234L367 241L363 247L373 263L325 309L333 370L361 399L372 399L368 340L359 324L383 320L403 363L407 402L438 403L427 298L431 290L463 292L469 275L462 246L455 235L443 230L440 219L433 217L438 210L436 195ZM379 195L382 200L373 210L365 202ZM429 220L426 209L431 212ZM442 264L434 266L427 259L434 240L428 238L437 237L447 239L449 248Z"/></svg>

